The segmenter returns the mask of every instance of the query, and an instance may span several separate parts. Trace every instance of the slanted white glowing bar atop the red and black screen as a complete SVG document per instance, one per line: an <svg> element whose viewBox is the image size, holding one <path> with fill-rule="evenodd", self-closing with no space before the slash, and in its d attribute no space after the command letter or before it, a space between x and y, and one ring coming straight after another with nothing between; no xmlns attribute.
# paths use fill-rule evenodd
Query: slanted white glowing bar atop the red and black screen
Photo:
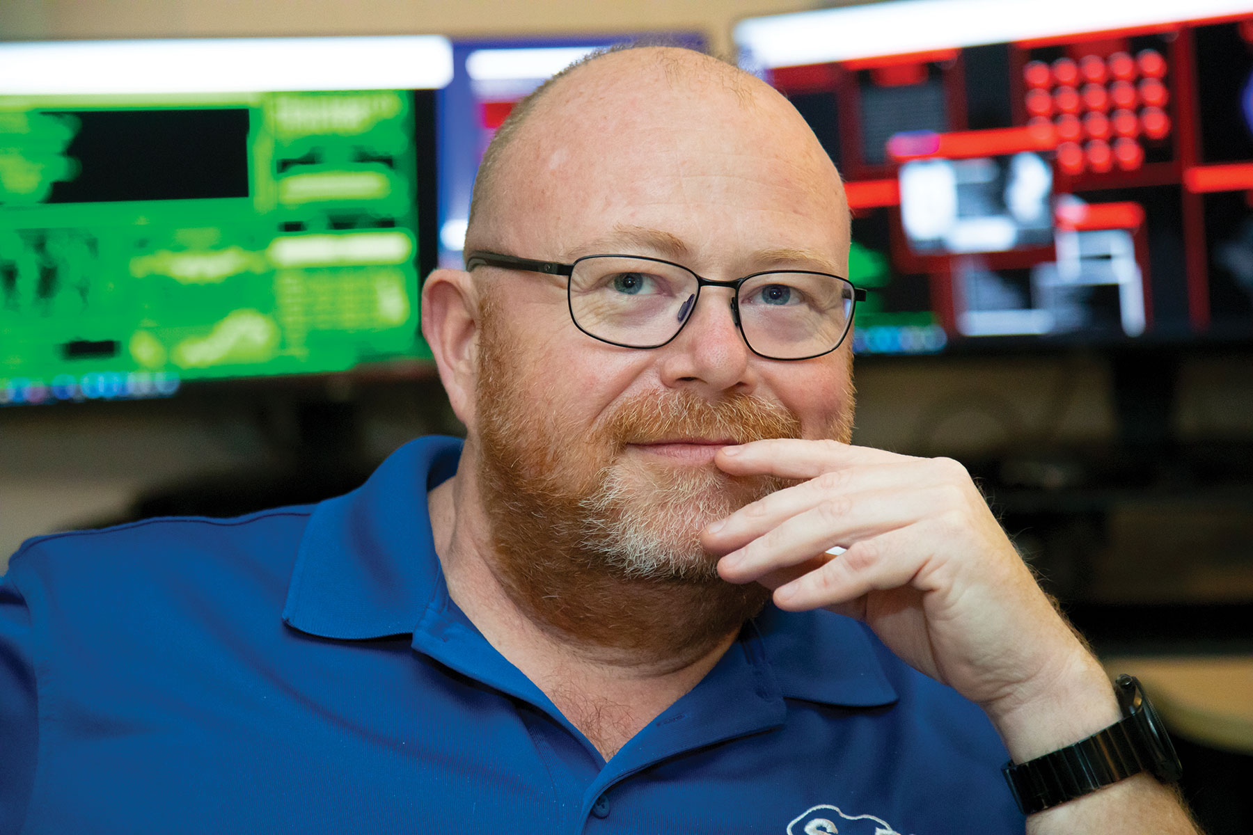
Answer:
<svg viewBox="0 0 1253 835"><path fill-rule="evenodd" d="M773 69L1247 13L1250 0L891 0L748 18L734 38L751 64Z"/></svg>

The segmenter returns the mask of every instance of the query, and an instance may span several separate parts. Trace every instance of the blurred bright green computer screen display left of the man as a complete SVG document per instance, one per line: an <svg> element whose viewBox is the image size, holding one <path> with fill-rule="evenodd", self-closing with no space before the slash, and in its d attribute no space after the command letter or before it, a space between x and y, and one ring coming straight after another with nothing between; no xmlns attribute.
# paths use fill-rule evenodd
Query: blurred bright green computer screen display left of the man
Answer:
<svg viewBox="0 0 1253 835"><path fill-rule="evenodd" d="M0 98L0 404L429 358L419 95Z"/></svg>

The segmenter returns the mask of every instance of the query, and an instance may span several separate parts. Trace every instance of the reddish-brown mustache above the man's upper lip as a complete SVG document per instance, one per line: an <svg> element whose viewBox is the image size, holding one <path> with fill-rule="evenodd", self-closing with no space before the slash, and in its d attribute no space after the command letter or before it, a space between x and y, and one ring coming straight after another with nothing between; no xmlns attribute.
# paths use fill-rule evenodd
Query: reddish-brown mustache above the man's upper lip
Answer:
<svg viewBox="0 0 1253 835"><path fill-rule="evenodd" d="M801 419L787 407L756 394L710 401L688 391L635 394L600 427L605 441L625 447L677 438L710 438L748 443L801 437Z"/></svg>

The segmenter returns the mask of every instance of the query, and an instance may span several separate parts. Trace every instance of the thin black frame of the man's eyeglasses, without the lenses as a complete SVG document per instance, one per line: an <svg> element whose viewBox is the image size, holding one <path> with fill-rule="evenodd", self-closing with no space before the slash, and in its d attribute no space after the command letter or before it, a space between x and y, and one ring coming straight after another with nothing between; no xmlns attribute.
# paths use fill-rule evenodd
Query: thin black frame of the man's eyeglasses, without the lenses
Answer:
<svg viewBox="0 0 1253 835"><path fill-rule="evenodd" d="M667 339L665 342L659 342L655 346L628 346L621 342L614 342L613 339L605 339L604 337L598 337L596 334L589 332L586 328L579 324L579 318L574 314L574 300L570 298L569 279L570 275L574 274L574 268L578 265L579 262L589 260L593 258L639 258L642 260L652 260L659 264L669 264L670 267L677 267L695 277L697 297L692 300L692 309L688 312L687 318L683 319L683 324L679 325L679 329L675 330L669 339ZM569 264L563 264L555 260L535 260L534 258L519 258L517 255L505 255L501 253L494 253L486 250L474 250L466 255L466 272L472 272L476 267L497 267L500 269L517 269L528 273L544 273L545 275L564 275L566 278L565 303L566 308L570 312L570 322L574 323L574 327L576 327L579 330L588 334L596 342L604 342L605 344L616 346L619 348L634 348L638 351L652 351L654 348L660 348L663 346L668 346L672 342L674 342L674 339L678 338L680 333L683 333L683 328L688 327L688 322L692 320L692 310L695 310L695 305L700 300L700 288L703 287L728 287L736 290L730 297L730 318L736 323L736 329L739 330L739 338L743 339L744 344L748 346L748 349L752 351L758 357L762 357L764 359L774 359L778 362L814 359L817 357L824 357L829 354L832 351L840 348L840 346L845 344L845 339L848 338L848 332L852 330L853 317L857 313L857 302L866 300L866 290L855 285L843 275L836 275L834 273L823 273L821 270L814 270L814 269L763 269L761 272L744 275L742 278L734 278L727 282L719 282L712 278L705 278L704 275L695 273L694 270L692 270L688 267L684 267L683 264L678 264L673 260L665 260L664 258L652 258L649 255L623 255L618 253L605 253L596 255L584 255L581 258L574 259L574 262ZM829 278L834 278L836 280L843 282L853 288L853 307L848 312L848 323L845 325L845 332L843 334L841 334L840 341L834 346L832 346L827 351L822 351L816 354L809 354L807 357L771 357L769 354L763 354L762 352L759 352L757 348L753 347L753 343L748 341L748 336L744 333L744 327L739 323L739 288L744 284L744 282L747 282L751 278L757 278L758 275L771 275L773 273L801 273L802 275L827 275Z"/></svg>

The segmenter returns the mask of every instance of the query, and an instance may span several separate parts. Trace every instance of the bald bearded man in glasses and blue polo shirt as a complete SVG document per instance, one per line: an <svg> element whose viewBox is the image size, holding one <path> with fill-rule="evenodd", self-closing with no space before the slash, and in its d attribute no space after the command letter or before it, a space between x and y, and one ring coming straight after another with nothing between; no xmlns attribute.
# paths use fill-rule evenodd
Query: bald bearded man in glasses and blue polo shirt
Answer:
<svg viewBox="0 0 1253 835"><path fill-rule="evenodd" d="M1001 765L1121 714L960 466L848 446L848 243L758 80L549 83L424 289L464 447L14 557L0 831L1021 831ZM1145 774L1026 826L1193 831Z"/></svg>

